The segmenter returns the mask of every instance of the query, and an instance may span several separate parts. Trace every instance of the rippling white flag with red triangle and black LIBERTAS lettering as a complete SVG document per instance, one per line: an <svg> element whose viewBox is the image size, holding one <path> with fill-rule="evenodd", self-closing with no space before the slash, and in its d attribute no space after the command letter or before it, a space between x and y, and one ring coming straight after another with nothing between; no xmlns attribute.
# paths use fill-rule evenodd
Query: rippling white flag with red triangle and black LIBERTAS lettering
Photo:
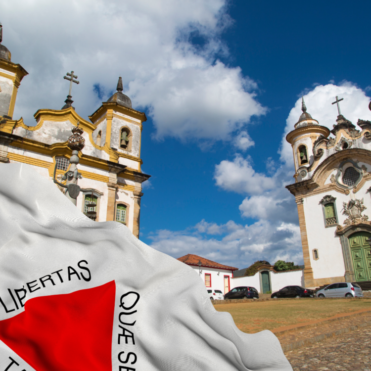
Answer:
<svg viewBox="0 0 371 371"><path fill-rule="evenodd" d="M0 164L0 371L292 370L217 312L197 272Z"/></svg>

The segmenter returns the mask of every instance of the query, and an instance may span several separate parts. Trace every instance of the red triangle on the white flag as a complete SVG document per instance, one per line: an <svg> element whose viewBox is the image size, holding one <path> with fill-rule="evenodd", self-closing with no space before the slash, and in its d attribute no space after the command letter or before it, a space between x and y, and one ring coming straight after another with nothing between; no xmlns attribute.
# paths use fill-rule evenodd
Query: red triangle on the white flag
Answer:
<svg viewBox="0 0 371 371"><path fill-rule="evenodd" d="M30 299L0 321L0 340L37 371L112 371L115 295L111 281Z"/></svg>

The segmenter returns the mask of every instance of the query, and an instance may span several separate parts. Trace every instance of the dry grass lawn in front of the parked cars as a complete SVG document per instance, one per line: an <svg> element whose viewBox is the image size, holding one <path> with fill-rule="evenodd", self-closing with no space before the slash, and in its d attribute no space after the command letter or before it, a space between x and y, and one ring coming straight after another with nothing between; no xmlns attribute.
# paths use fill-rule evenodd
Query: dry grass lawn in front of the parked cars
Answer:
<svg viewBox="0 0 371 371"><path fill-rule="evenodd" d="M243 332L254 333L326 319L340 313L371 310L371 299L293 299L263 302L218 304L218 312L231 313L234 323Z"/></svg>

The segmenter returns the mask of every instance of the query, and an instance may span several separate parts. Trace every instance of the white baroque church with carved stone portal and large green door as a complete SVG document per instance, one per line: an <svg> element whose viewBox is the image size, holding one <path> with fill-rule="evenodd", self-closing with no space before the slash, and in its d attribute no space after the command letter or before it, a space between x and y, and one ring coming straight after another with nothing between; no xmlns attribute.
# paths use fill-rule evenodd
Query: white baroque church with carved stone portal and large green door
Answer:
<svg viewBox="0 0 371 371"><path fill-rule="evenodd" d="M286 188L298 208L306 287L371 283L371 122L359 119L357 128L337 97L334 103L332 130L312 118L303 99L286 136L295 163L295 183Z"/></svg>

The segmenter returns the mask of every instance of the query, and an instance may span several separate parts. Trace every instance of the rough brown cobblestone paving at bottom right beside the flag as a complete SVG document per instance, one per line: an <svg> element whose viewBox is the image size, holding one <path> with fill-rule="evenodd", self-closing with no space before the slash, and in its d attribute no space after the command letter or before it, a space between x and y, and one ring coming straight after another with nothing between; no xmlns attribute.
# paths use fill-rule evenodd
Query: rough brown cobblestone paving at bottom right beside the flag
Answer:
<svg viewBox="0 0 371 371"><path fill-rule="evenodd" d="M360 318L367 320L370 315ZM353 321L339 321L330 325L334 330L353 325ZM287 351L285 356L294 371L371 371L371 326Z"/></svg>

